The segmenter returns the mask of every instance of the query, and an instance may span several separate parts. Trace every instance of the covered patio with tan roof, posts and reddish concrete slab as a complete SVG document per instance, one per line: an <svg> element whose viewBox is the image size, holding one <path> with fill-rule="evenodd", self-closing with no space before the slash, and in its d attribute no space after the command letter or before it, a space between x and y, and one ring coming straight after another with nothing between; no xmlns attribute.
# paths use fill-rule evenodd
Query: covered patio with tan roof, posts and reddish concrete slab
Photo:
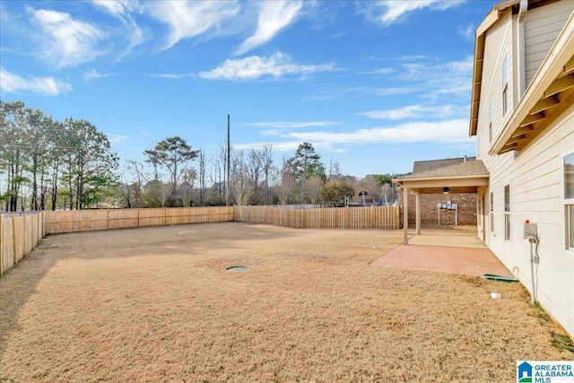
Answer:
<svg viewBox="0 0 574 383"><path fill-rule="evenodd" d="M476 232L426 231L421 228L422 194L478 193L488 187L489 173L483 161L465 161L435 170L420 171L393 181L403 195L403 244L378 258L371 265L387 265L415 270L453 274L512 276L486 247ZM409 235L408 196L415 196L415 231ZM479 199L479 205L483 201ZM478 207L479 214L483 206Z"/></svg>

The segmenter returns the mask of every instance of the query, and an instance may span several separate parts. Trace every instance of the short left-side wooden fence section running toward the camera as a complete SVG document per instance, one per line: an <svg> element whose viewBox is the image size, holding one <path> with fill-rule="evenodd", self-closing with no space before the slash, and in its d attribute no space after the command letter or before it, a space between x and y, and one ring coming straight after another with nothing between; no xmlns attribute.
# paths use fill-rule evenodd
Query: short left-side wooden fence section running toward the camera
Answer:
<svg viewBox="0 0 574 383"><path fill-rule="evenodd" d="M17 265L46 236L44 214L0 213L0 274Z"/></svg>

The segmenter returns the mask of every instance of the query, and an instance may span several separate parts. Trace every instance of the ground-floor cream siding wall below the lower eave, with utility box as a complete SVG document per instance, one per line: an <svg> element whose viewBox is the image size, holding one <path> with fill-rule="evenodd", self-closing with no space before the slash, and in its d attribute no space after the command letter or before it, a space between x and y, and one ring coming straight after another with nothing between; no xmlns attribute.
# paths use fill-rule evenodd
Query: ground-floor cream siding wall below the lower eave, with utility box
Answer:
<svg viewBox="0 0 574 383"><path fill-rule="evenodd" d="M574 251L565 248L566 205L564 199L563 154L574 152L574 106L561 121L546 129L526 149L516 154L491 157L487 169L494 190L495 231L488 246L509 269L518 267L522 283L530 286L527 273L529 243L522 238L522 225L534 222L540 237L540 257L544 267L538 269L538 299L553 317L574 331L574 291L572 272ZM511 240L504 239L504 186L510 185ZM500 222L500 223L499 223Z"/></svg>

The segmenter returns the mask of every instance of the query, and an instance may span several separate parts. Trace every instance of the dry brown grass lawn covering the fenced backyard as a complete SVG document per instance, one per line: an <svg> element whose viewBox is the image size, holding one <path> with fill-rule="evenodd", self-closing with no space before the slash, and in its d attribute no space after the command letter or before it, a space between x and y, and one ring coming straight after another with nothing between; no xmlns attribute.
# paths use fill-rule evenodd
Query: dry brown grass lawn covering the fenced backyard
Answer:
<svg viewBox="0 0 574 383"><path fill-rule="evenodd" d="M518 283L369 265L401 238L239 223L48 237L0 279L0 381L501 382L517 360L572 359Z"/></svg>

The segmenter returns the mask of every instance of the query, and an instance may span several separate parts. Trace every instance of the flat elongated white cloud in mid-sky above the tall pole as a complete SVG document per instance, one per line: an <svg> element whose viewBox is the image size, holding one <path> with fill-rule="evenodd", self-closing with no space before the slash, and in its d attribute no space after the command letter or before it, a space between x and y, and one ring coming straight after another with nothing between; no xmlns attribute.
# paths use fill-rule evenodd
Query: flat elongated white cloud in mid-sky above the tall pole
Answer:
<svg viewBox="0 0 574 383"><path fill-rule="evenodd" d="M271 57L251 56L225 62L209 72L199 73L206 80L245 81L261 77L281 78L285 75L305 76L317 72L331 72L334 64L300 65L291 62L291 57L281 52Z"/></svg>

